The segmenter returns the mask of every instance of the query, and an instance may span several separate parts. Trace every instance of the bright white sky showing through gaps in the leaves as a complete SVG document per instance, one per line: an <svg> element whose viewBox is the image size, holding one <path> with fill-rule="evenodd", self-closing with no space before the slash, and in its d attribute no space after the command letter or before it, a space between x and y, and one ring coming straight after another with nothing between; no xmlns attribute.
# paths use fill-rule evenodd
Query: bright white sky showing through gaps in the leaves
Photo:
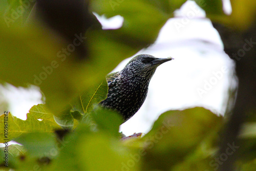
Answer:
<svg viewBox="0 0 256 171"><path fill-rule="evenodd" d="M228 3L225 10L231 12ZM95 15L103 29L122 26L121 16L106 19ZM232 77L234 63L224 53L220 36L205 18L205 12L194 2L185 3L175 15L176 18L166 22L152 46L134 55L175 59L157 68L144 104L120 126L125 135L147 133L159 115L168 110L203 106L217 115L225 113L228 89L235 83ZM131 58L123 60L113 72L120 71ZM21 119L26 119L33 105L42 102L37 87L2 87L0 95L8 102L8 110Z"/></svg>

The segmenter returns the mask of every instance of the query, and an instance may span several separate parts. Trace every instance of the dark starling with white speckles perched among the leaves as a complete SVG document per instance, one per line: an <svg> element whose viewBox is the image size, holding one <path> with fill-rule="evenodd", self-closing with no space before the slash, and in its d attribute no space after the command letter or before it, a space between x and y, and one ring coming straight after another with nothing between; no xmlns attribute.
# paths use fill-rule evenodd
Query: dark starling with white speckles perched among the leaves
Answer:
<svg viewBox="0 0 256 171"><path fill-rule="evenodd" d="M108 97L101 101L106 109L120 113L123 122L130 119L143 104L148 84L158 66L173 58L156 58L141 54L131 59L119 72L106 76Z"/></svg>

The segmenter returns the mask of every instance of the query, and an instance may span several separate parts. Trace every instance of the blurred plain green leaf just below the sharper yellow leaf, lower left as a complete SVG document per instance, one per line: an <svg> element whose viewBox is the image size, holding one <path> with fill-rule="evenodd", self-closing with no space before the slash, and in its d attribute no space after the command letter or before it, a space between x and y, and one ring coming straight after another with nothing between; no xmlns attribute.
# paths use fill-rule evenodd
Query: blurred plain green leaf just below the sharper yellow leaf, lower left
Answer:
<svg viewBox="0 0 256 171"><path fill-rule="evenodd" d="M15 138L15 141L23 144L32 157L55 157L58 154L53 133L34 132L23 134Z"/></svg>

